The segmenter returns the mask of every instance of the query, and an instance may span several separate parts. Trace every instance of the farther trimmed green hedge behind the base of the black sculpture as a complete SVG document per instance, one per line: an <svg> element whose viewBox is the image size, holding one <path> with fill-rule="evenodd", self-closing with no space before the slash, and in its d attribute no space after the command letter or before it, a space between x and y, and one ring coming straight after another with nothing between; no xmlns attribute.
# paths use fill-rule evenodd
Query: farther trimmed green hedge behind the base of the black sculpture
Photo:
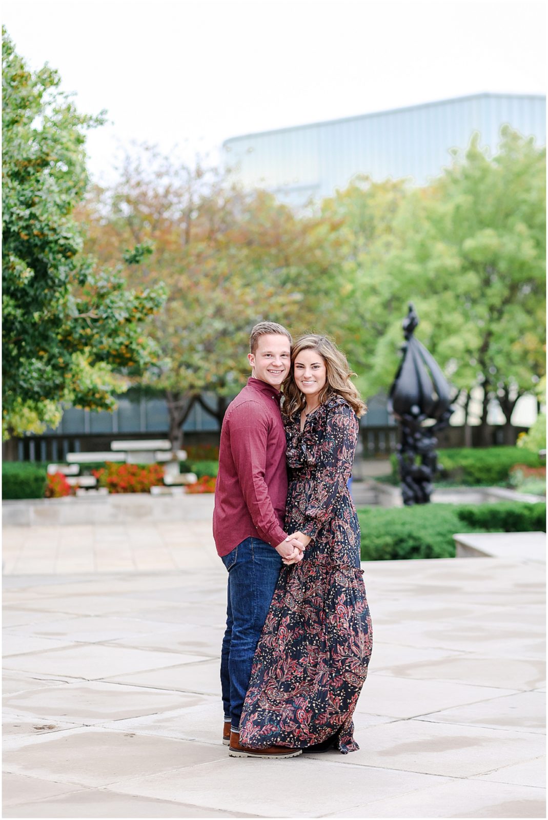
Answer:
<svg viewBox="0 0 548 820"><path fill-rule="evenodd" d="M454 485L472 487L505 485L508 474L514 464L527 464L527 467L540 467L537 453L521 447L454 447L438 450L438 461L441 471L434 479L434 484L442 485L445 481ZM392 483L400 484L398 461L395 455L390 456L392 464ZM441 480L441 481L440 481Z"/></svg>

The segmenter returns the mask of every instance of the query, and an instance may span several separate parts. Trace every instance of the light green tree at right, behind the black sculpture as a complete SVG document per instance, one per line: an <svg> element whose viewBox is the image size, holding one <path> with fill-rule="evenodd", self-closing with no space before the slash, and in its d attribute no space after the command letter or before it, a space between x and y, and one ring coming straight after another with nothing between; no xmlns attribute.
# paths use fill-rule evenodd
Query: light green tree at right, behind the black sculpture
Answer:
<svg viewBox="0 0 548 820"><path fill-rule="evenodd" d="M545 149L505 127L494 157L475 134L431 185L399 192L386 230L349 257L359 283L349 313L366 327L368 392L390 385L410 299L421 318L418 337L465 406L482 387L485 443L491 399L505 413L510 440L515 403L545 367L545 178ZM371 196L363 192L366 211Z"/></svg>

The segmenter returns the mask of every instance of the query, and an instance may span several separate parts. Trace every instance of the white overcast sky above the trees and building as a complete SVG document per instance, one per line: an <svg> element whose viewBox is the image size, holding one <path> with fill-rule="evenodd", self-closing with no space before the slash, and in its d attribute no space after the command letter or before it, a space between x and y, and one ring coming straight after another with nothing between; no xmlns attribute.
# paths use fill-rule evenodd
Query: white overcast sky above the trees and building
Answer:
<svg viewBox="0 0 548 820"><path fill-rule="evenodd" d="M537 0L4 0L32 68L106 108L89 166L131 140L215 159L237 134L482 91L546 93Z"/></svg>

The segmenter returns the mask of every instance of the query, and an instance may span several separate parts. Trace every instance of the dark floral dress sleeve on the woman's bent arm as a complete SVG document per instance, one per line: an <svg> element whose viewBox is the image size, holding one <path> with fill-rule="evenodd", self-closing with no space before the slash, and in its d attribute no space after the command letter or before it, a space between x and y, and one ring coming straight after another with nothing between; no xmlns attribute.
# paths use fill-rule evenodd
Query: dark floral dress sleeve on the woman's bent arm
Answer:
<svg viewBox="0 0 548 820"><path fill-rule="evenodd" d="M303 534L315 538L323 524L331 518L336 500L344 492L352 474L354 450L358 440L358 419L348 405L337 405L327 412L326 431L318 443L316 477L304 508Z"/></svg>

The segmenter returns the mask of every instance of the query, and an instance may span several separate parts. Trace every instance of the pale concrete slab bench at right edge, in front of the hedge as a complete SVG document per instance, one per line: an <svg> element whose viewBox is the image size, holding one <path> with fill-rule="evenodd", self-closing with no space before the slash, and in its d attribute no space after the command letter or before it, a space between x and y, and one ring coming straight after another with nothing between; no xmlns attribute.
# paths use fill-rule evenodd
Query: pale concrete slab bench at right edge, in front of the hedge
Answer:
<svg viewBox="0 0 548 820"><path fill-rule="evenodd" d="M523 558L546 562L546 532L458 532L457 558Z"/></svg>

